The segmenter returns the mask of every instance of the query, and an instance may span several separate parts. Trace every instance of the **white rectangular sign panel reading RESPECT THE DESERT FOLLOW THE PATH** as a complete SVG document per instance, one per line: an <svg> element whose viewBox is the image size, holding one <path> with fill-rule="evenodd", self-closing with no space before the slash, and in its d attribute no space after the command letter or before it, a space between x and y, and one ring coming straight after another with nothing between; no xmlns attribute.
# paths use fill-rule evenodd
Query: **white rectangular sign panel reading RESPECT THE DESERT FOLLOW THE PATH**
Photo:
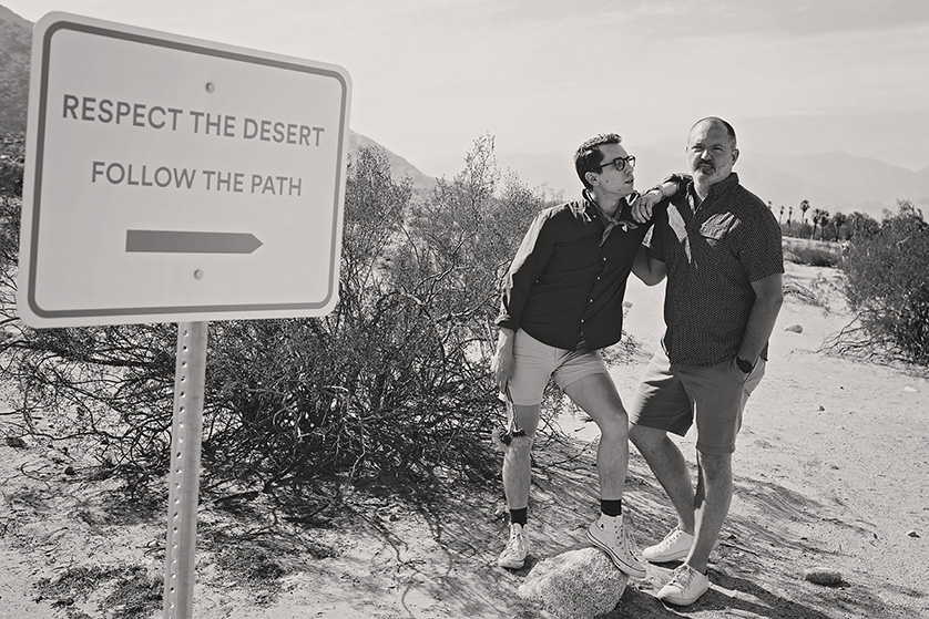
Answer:
<svg viewBox="0 0 929 619"><path fill-rule="evenodd" d="M331 311L344 69L50 13L31 71L27 324Z"/></svg>

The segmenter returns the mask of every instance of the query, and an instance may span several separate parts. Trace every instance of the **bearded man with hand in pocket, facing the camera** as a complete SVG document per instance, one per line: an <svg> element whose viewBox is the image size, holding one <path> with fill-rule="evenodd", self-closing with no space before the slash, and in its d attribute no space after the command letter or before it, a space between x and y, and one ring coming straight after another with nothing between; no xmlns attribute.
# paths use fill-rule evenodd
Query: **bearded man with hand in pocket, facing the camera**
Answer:
<svg viewBox="0 0 929 619"><path fill-rule="evenodd" d="M652 220L654 208L650 272L667 275L666 330L630 407L630 439L677 513L677 526L642 551L651 563L683 559L657 594L674 605L693 603L709 588L706 564L732 502L735 439L784 301L780 226L739 185L736 159L732 125L697 121L687 137L693 176L670 177L670 192L649 189L633 214ZM696 488L667 436L694 424Z"/></svg>

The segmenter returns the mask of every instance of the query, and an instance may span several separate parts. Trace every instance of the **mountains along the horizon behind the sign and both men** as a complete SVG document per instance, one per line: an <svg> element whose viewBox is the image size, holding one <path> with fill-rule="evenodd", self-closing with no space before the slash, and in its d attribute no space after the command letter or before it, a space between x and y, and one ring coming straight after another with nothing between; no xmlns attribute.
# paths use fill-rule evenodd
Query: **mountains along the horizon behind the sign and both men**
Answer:
<svg viewBox="0 0 929 619"><path fill-rule="evenodd" d="M32 23L0 6L0 133L25 131L29 94L29 63ZM436 179L420 172L402 156L356 132L349 132L349 149L377 146L386 153L395 176L409 176L419 194ZM672 172L685 168L681 144L657 143L644 147L624 144L636 156L636 187L645 189ZM465 153L461 154L462 159ZM544 187L549 195L573 197L580 190L572 153L497 152L502 169L511 169L530 187ZM784 206L784 218L806 199L813 208L846 214L855 210L880 219L885 209L895 212L898 199L929 206L929 167L913 172L872 158L844 152L819 154L772 154L743 152L735 166L742 183L775 214Z"/></svg>

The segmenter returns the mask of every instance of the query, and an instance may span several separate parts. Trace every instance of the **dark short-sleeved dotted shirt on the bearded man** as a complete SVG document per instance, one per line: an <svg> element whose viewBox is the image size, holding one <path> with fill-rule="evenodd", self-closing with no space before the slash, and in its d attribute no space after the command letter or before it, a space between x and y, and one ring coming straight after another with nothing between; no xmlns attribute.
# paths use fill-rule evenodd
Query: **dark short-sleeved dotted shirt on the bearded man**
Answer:
<svg viewBox="0 0 929 619"><path fill-rule="evenodd" d="M780 226L735 173L696 208L693 182L668 179L678 192L655 209L649 247L667 268L662 344L672 363L714 365L738 353L755 302L752 282L784 272Z"/></svg>

